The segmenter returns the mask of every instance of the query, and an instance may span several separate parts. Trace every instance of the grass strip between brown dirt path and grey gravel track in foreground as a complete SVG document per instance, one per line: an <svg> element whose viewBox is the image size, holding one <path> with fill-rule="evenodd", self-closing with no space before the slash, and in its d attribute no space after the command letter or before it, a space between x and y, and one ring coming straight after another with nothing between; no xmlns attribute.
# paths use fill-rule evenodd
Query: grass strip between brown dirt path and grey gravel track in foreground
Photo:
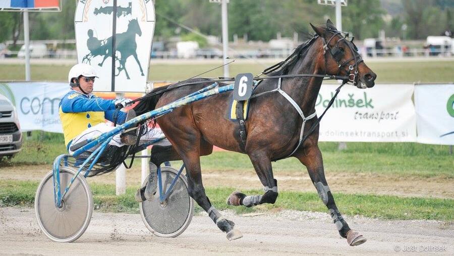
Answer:
<svg viewBox="0 0 454 256"><path fill-rule="evenodd" d="M0 180L0 207L26 206L34 203L38 182ZM128 187L126 194L115 195L115 185L90 184L94 208L100 212L138 213L139 204L134 201L136 188ZM256 208L231 207L225 198L233 191L230 187L208 187L206 193L212 204L219 210L231 209L237 214L279 211L283 209L326 213L326 207L316 193L282 191L275 204L263 204ZM263 191L243 191L247 194L261 194ZM346 215L361 215L387 220L454 220L454 200L438 198L398 197L371 194L335 193L339 210ZM197 206L196 212L201 209Z"/></svg>

